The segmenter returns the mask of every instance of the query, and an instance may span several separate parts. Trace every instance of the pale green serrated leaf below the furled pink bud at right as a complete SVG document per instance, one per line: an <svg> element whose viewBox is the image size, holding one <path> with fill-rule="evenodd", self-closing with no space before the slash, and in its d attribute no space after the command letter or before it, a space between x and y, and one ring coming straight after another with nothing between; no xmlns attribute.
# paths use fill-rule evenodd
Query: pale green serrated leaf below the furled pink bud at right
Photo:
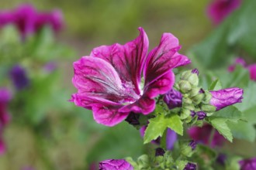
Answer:
<svg viewBox="0 0 256 170"><path fill-rule="evenodd" d="M233 141L231 130L227 126L227 118L210 118L209 123L212 124L213 127L216 128L216 130L219 131L219 133L222 134L224 138L230 142Z"/></svg>

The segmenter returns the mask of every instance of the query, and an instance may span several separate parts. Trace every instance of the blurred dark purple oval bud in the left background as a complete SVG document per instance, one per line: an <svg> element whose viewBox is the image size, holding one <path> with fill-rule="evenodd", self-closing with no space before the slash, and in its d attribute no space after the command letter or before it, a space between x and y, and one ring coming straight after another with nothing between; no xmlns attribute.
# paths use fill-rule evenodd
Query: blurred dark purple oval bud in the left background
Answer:
<svg viewBox="0 0 256 170"><path fill-rule="evenodd" d="M16 90L23 90L29 86L29 78L26 74L26 70L22 66L13 66L10 71L10 76Z"/></svg>

